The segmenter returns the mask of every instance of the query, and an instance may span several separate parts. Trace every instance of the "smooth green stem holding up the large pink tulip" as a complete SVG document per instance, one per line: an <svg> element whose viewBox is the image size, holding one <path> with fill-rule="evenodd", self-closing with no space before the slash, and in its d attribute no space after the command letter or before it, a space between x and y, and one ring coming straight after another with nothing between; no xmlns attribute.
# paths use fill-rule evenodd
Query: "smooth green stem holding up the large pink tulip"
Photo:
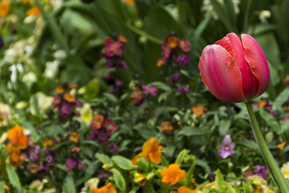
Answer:
<svg viewBox="0 0 289 193"><path fill-rule="evenodd" d="M265 140L264 137L261 133L261 130L258 126L258 122L257 119L255 117L255 113L253 111L253 107L252 107L252 103L251 101L245 102L249 116L251 118L251 124L252 124L252 128L253 128L253 133L255 138L257 139L257 144L259 146L259 149L262 153L263 159L267 165L267 167L269 168L272 177L274 178L275 182L277 183L277 185L279 186L279 188L281 189L282 193L289 193L288 187L289 187L289 183L288 181L285 179L284 175L282 174L281 170L279 169L275 159L273 158Z"/></svg>

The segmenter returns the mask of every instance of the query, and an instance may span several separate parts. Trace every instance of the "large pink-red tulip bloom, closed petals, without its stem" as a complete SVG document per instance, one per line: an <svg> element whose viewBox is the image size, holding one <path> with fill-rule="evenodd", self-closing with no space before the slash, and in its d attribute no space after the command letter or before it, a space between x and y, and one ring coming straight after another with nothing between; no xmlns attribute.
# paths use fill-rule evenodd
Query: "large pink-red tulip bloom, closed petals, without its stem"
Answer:
<svg viewBox="0 0 289 193"><path fill-rule="evenodd" d="M201 77L218 99L238 103L262 95L269 84L266 57L256 42L242 34L242 41L230 33L214 45L208 45L199 62Z"/></svg>

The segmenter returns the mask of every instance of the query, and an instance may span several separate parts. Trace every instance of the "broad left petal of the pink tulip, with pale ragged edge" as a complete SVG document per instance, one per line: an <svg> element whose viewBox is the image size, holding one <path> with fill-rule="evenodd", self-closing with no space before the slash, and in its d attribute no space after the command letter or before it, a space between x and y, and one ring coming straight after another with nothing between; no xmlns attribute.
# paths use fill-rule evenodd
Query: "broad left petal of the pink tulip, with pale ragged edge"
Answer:
<svg viewBox="0 0 289 193"><path fill-rule="evenodd" d="M199 69L208 90L218 99L244 102L242 74L234 58L220 45L208 45L202 52Z"/></svg>

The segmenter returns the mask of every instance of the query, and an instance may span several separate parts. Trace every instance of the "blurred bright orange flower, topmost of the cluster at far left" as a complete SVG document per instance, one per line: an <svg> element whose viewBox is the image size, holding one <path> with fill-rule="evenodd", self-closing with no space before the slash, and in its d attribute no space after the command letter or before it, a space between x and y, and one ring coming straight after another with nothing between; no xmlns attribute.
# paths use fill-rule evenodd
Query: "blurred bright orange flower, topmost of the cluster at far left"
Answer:
<svg viewBox="0 0 289 193"><path fill-rule="evenodd" d="M22 128L19 125L11 128L7 132L7 137L11 139L12 143L16 148L26 149L28 144L28 137L26 137L23 133Z"/></svg>

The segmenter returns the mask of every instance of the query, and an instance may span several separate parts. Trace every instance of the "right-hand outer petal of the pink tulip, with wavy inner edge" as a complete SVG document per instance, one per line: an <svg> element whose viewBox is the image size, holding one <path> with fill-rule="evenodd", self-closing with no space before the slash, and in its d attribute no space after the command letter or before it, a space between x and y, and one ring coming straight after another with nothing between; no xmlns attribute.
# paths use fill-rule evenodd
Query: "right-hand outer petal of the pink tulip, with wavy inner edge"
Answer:
<svg viewBox="0 0 289 193"><path fill-rule="evenodd" d="M252 73L260 84L258 92L254 96L256 98L266 91L270 81L270 70L264 52L256 40L248 34L242 34L241 37L245 49L245 59L248 61Z"/></svg>

